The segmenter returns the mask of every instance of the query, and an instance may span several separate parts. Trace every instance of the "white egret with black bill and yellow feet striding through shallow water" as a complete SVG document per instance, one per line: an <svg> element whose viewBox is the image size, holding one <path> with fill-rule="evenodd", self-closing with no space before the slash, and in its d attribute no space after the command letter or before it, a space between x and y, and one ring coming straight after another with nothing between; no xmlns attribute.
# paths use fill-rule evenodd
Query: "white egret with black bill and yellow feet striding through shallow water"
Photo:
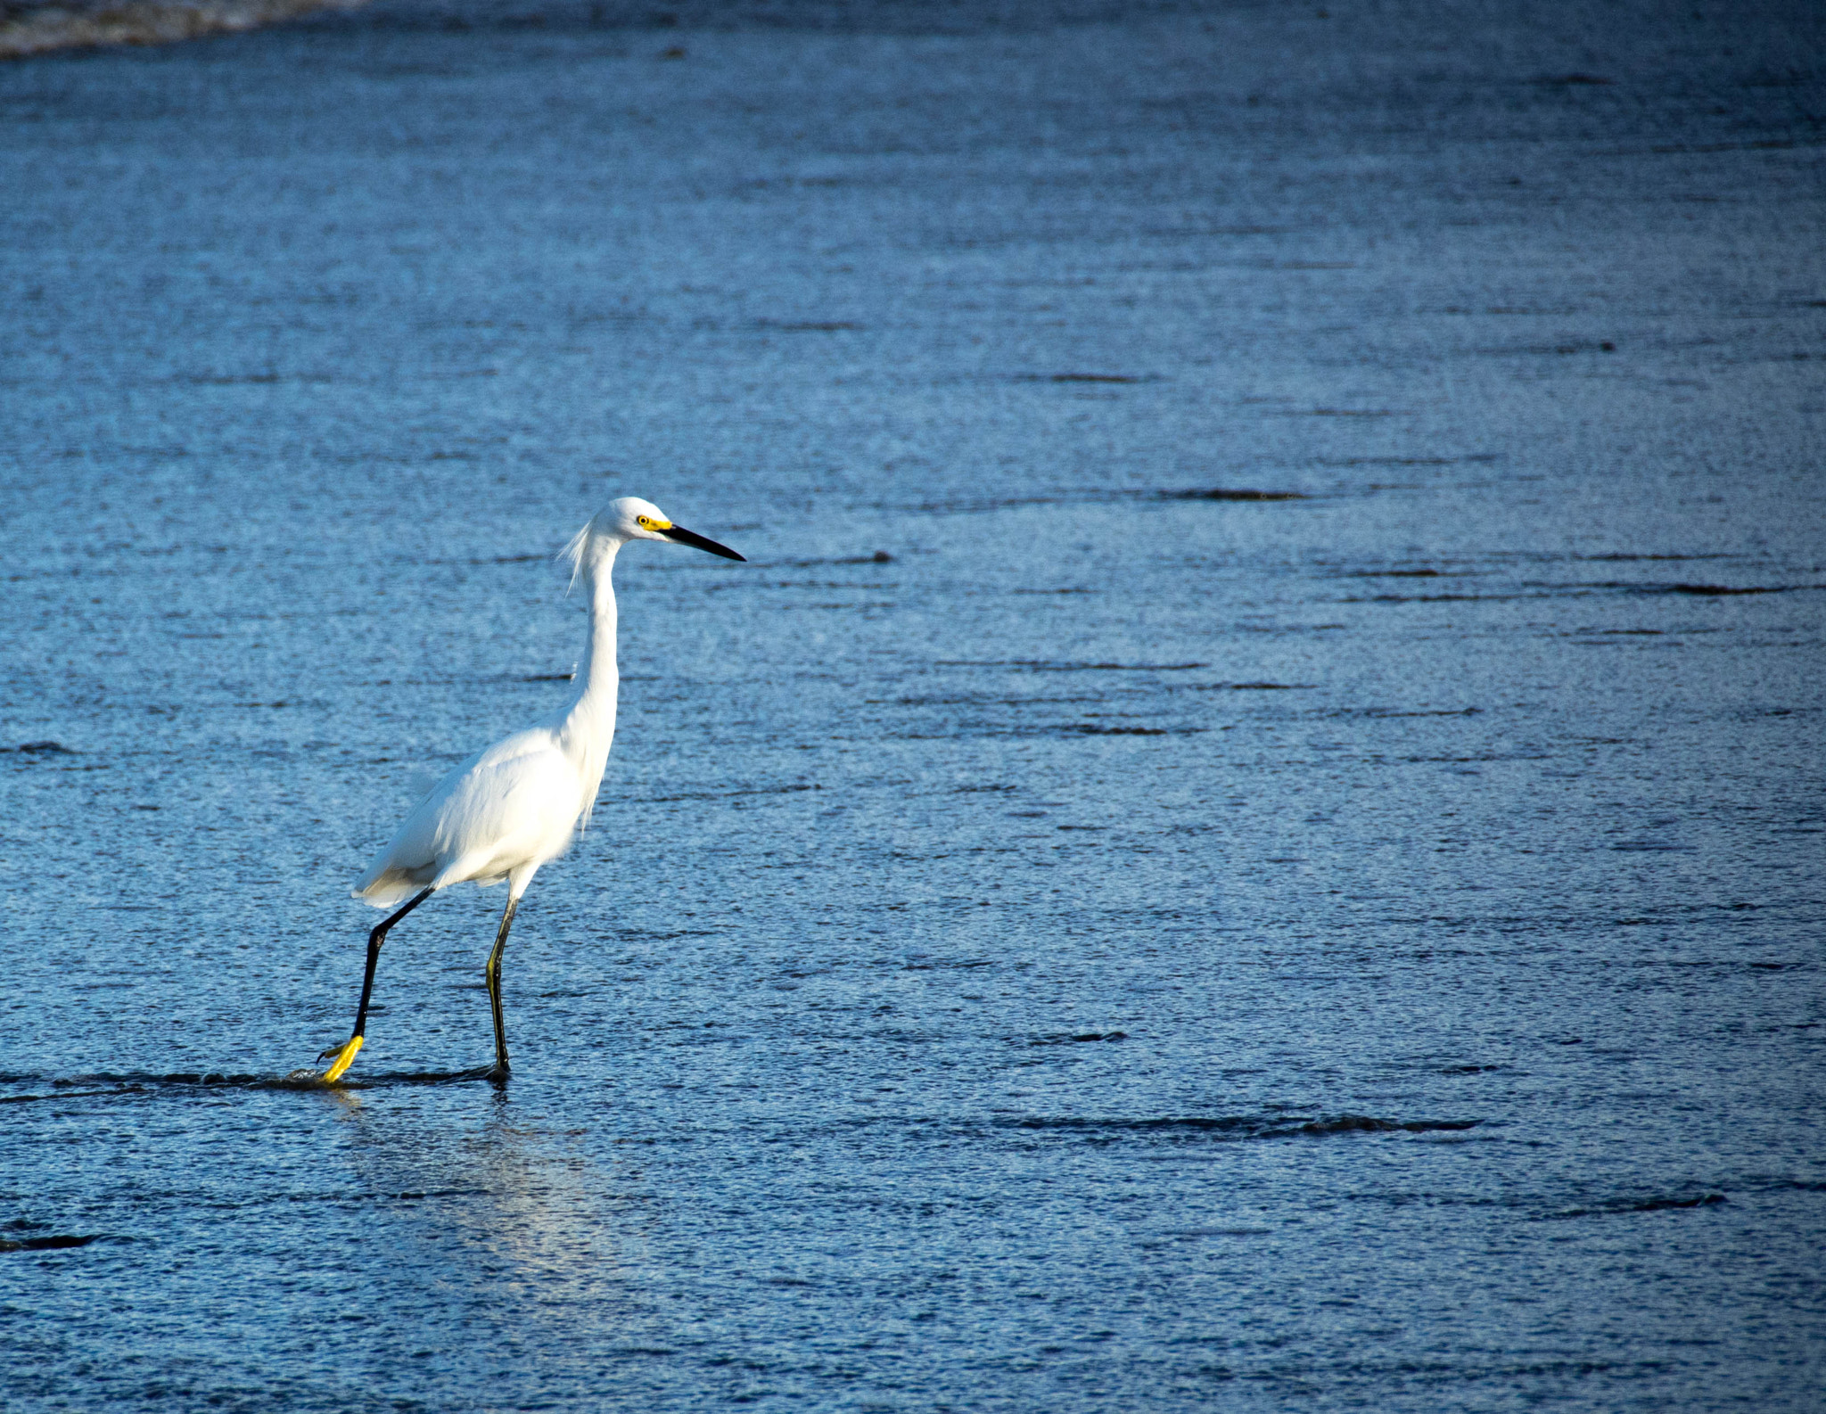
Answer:
<svg viewBox="0 0 1826 1414"><path fill-rule="evenodd" d="M356 899L376 908L405 906L391 913L367 935L367 974L362 977L362 1003L354 1014L354 1034L331 1047L320 1061L331 1061L325 1082L338 1080L354 1061L367 1030L367 1001L374 992L374 963L387 930L418 904L451 884L498 884L508 881L508 908L500 915L495 950L482 976L495 1010L497 1078L508 1074L508 1036L500 1021L500 954L508 946L508 928L520 895L533 882L539 866L557 859L570 844L572 829L590 822L595 793L608 764L608 744L615 734L615 588L610 572L615 554L628 541L672 541L696 544L712 555L741 559L727 544L718 544L672 524L652 501L624 495L590 519L564 548L572 565L572 583L579 579L590 592L590 643L577 669L577 698L557 716L519 731L471 756L405 817L393 842L367 866L354 886Z"/></svg>

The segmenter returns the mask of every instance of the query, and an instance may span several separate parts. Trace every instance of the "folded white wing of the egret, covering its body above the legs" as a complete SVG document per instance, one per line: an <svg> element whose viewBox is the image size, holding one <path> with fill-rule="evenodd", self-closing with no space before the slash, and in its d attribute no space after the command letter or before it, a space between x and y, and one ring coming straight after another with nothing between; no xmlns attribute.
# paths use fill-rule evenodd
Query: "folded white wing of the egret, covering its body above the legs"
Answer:
<svg viewBox="0 0 1826 1414"><path fill-rule="evenodd" d="M564 848L582 809L577 769L540 727L471 756L413 807L354 893L374 904L424 886L493 881Z"/></svg>

